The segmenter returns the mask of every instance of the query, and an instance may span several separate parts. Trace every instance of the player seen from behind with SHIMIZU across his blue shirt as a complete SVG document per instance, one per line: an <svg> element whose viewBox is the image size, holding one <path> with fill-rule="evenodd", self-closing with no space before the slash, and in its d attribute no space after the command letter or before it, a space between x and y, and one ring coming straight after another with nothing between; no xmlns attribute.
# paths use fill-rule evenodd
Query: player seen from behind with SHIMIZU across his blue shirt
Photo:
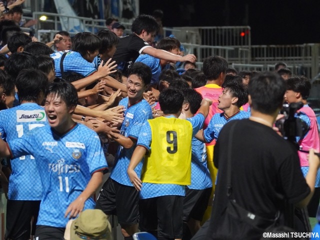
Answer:
<svg viewBox="0 0 320 240"><path fill-rule="evenodd" d="M46 124L45 112L39 106L48 83L46 75L35 69L21 70L16 78L20 105L0 111L2 139L11 141L21 137L34 127ZM6 205L6 239L29 239L34 235L42 186L33 156L24 155L12 159L9 191ZM30 221L33 217L32 233Z"/></svg>

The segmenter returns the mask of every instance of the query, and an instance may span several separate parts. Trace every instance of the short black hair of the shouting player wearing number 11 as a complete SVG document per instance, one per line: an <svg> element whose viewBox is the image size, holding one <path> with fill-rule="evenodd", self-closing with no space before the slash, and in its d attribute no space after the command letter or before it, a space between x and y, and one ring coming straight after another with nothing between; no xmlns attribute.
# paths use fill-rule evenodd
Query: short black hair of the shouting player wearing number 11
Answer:
<svg viewBox="0 0 320 240"><path fill-rule="evenodd" d="M61 101L65 102L67 107L75 107L78 101L75 87L67 81L49 83L44 97L46 98L48 95L59 97Z"/></svg>

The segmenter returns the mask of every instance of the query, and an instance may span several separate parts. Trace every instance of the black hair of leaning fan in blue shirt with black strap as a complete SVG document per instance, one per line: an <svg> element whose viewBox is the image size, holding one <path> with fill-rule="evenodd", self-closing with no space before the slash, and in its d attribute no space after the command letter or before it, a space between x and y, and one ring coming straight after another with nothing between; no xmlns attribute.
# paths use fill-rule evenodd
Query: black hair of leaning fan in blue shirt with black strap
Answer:
<svg viewBox="0 0 320 240"><path fill-rule="evenodd" d="M94 52L101 47L101 40L91 32L79 32L72 38L72 51L77 51L84 56L87 51Z"/></svg>

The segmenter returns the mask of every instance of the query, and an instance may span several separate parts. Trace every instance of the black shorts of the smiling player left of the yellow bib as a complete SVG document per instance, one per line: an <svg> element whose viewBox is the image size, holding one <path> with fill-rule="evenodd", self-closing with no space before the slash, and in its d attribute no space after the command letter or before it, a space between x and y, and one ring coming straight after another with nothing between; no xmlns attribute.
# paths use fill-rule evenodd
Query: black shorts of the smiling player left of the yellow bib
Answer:
<svg viewBox="0 0 320 240"><path fill-rule="evenodd" d="M116 215L120 224L136 224L139 221L139 192L134 186L122 185L109 177L102 186L95 208L107 215Z"/></svg>

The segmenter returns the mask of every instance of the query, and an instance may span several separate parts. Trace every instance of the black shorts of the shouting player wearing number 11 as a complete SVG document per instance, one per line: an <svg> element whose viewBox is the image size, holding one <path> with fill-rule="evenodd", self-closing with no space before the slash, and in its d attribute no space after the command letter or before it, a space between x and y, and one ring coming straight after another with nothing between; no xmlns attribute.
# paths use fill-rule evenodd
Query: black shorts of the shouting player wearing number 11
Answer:
<svg viewBox="0 0 320 240"><path fill-rule="evenodd" d="M36 240L64 240L65 227L37 225L34 239ZM38 237L38 238L37 238Z"/></svg>

